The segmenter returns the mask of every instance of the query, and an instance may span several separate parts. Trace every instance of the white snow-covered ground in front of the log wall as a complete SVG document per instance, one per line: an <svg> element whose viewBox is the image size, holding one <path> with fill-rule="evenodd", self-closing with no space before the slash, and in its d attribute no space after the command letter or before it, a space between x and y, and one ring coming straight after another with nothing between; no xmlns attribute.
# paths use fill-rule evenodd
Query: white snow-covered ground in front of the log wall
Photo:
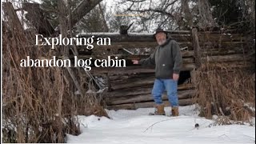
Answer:
<svg viewBox="0 0 256 144"><path fill-rule="evenodd" d="M255 143L255 126L209 126L214 121L198 117L195 106L181 106L180 116L150 116L154 108L107 110L106 117L79 116L82 134L68 135L69 143L170 144ZM166 112L170 107L166 107ZM195 129L195 123L199 129Z"/></svg>

